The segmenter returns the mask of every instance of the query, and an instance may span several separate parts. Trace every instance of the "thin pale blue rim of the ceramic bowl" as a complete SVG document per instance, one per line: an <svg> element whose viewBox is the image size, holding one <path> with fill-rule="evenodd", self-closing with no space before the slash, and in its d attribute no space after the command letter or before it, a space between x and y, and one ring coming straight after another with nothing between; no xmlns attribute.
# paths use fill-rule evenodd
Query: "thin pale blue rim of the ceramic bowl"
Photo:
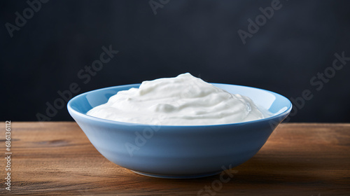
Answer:
<svg viewBox="0 0 350 196"><path fill-rule="evenodd" d="M212 84L212 85L232 85L232 84L225 84L225 83L210 83L210 84ZM73 109L71 107L71 104L76 99L78 99L78 97L83 97L85 94L89 94L89 93L95 92L95 91L109 90L109 89L115 88L115 87L130 87L131 88L131 87L134 87L135 85L141 85L141 83L134 83L134 84L129 84L129 85L116 85L116 86L111 86L111 87L103 87L103 88L99 88L99 89L96 89L96 90L90 90L90 91L87 91L87 92L83 92L81 94L76 95L75 97L72 97L69 100L69 102L68 102L66 107L67 107L67 109L68 109L70 114L73 113L76 116L80 116L80 118L86 118L87 120L93 120L93 121L97 121L99 123L107 123L107 124L110 124L110 125L161 126L161 127L218 127L218 126L228 126L228 125L245 125L245 124L250 124L250 123L260 123L260 122L265 121L265 120L273 120L273 119L276 119L276 118L279 119L282 116L285 116L284 118L286 118L288 116L288 113L290 113L290 111L293 108L293 104L290 102L290 100L288 98L284 97L281 94L278 94L276 92L272 92L270 90L265 90L265 89L261 89L261 88L258 88L258 87L249 87L249 86L245 86L245 85L234 85L234 86L253 88L253 89L256 89L256 90L263 90L263 91L269 92L270 94L274 94L274 95L280 96L283 99L286 99L288 101L288 107L287 107L286 111L283 111L283 112L281 112L279 114L276 114L276 115L273 115L273 116L269 116L267 118L262 118L262 119L258 119L258 120L250 120L250 121L240 122L240 123L227 123L227 124L218 124L218 125L151 125L151 124L143 124L143 123L127 123L127 122L121 122L121 121L116 121L116 120L107 120L107 119L104 119L104 118L97 118L97 117L94 117L94 116L88 116L86 113L81 113L80 111L76 111L75 109Z"/></svg>

